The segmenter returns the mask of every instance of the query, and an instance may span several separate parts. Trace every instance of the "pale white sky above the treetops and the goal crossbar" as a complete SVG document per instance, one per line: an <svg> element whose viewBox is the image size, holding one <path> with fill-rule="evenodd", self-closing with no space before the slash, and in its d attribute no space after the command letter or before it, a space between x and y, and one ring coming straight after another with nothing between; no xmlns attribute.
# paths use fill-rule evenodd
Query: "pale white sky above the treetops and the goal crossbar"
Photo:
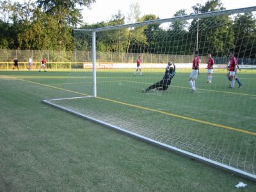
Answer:
<svg viewBox="0 0 256 192"><path fill-rule="evenodd" d="M173 17L174 13L180 9L186 9L187 13L191 13L192 6L196 5L196 3L204 5L206 1L207 0L96 0L96 3L93 3L91 6L91 10L84 8L82 14L84 22L88 24L95 24L101 21L106 22L111 19L112 15L116 15L118 10L127 18L130 5L138 2L140 4L140 16L154 14L160 19L166 19ZM256 6L255 0L222 0L221 2L227 10Z"/></svg>

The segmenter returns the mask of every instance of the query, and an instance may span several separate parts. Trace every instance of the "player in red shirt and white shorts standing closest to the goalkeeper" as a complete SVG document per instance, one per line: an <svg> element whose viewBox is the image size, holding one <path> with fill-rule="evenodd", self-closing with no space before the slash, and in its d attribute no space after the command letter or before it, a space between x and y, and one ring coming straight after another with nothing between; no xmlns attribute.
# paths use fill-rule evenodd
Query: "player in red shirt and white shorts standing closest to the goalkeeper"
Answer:
<svg viewBox="0 0 256 192"><path fill-rule="evenodd" d="M200 64L200 60L198 57L198 51L195 51L195 58L193 59L192 72L189 76L189 85L191 87L191 92L195 92L196 90L195 79L199 75L199 64Z"/></svg>

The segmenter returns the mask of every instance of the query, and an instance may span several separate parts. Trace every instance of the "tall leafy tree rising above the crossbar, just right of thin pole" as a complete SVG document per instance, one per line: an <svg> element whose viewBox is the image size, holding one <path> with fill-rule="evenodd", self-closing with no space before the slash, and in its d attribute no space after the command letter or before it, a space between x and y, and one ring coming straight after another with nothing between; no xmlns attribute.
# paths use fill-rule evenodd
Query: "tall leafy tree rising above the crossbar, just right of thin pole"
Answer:
<svg viewBox="0 0 256 192"><path fill-rule="evenodd" d="M220 0L207 1L204 6L193 6L195 13L215 12L225 10ZM191 22L189 32L196 36L197 21ZM191 44L195 44L191 40ZM234 31L232 29L232 21L228 15L211 17L199 20L199 42L204 44L198 45L200 54L211 52L214 56L227 55L230 49L234 48Z"/></svg>

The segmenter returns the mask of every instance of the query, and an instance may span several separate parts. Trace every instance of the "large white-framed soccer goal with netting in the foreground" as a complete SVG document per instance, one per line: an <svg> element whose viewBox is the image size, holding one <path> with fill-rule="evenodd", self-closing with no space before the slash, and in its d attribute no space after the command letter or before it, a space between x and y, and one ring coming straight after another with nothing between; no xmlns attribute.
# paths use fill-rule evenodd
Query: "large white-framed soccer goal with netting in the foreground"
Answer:
<svg viewBox="0 0 256 192"><path fill-rule="evenodd" d="M256 180L255 13L256 6L74 29L72 60L79 66L60 86L77 97L44 102ZM200 74L191 92L195 51ZM241 68L235 88L227 77L231 51ZM209 54L215 61L211 83ZM168 61L176 70L168 86L143 92L163 80Z"/></svg>

